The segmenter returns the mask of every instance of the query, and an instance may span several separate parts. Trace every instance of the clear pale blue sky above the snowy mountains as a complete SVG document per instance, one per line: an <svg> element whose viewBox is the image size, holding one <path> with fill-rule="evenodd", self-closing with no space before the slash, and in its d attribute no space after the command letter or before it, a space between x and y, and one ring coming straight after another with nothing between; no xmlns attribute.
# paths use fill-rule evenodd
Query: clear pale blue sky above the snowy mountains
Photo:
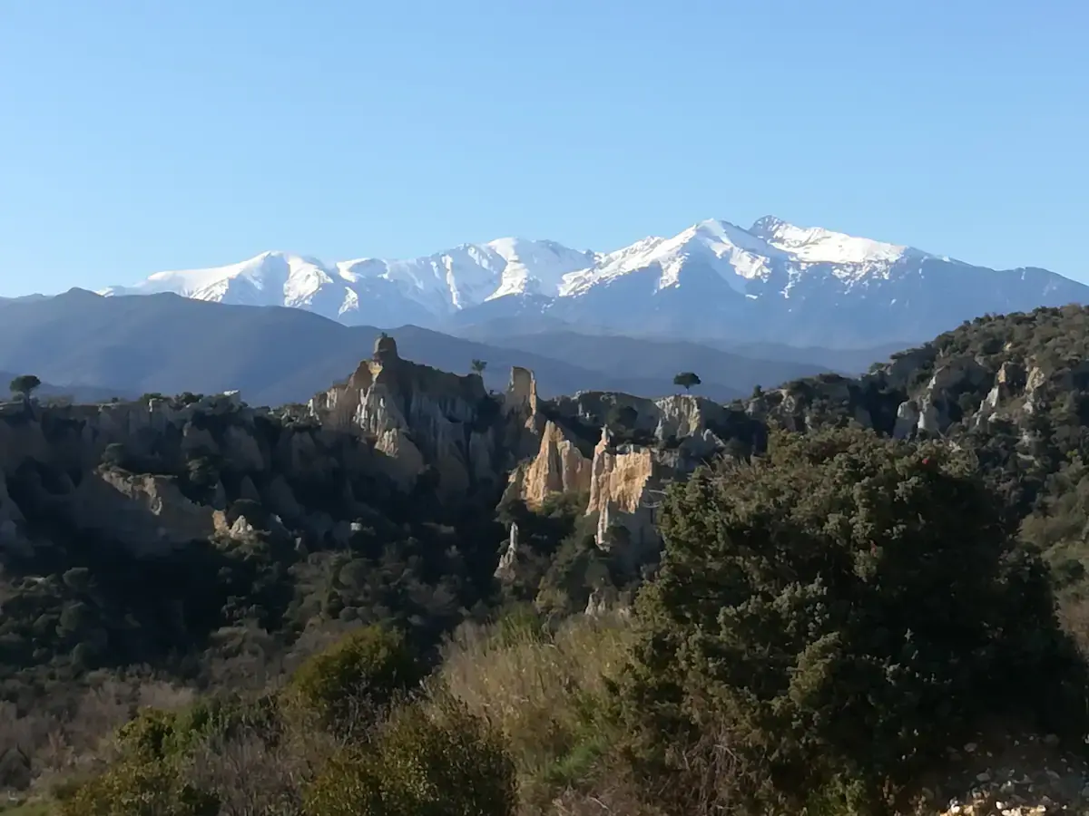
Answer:
<svg viewBox="0 0 1089 816"><path fill-rule="evenodd" d="M0 295L773 213L1089 281L1089 3L2 0Z"/></svg>

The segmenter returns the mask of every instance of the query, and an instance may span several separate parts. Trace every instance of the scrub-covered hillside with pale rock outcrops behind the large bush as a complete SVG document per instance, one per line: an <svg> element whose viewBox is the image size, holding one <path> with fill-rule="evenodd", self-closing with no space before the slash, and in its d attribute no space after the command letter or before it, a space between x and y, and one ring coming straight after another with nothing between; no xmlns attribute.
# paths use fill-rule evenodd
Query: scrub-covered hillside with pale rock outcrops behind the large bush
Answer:
<svg viewBox="0 0 1089 816"><path fill-rule="evenodd" d="M1089 309L987 316L861 378L797 380L746 407L791 430L856 422L954 441L1027 511L1052 474L1089 455Z"/></svg>

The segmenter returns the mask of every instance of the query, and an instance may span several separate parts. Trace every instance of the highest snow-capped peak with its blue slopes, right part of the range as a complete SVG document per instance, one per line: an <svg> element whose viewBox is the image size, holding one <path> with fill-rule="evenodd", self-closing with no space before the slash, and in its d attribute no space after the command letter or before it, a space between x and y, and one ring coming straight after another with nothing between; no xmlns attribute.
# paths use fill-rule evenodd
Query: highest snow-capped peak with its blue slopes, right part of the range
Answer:
<svg viewBox="0 0 1089 816"><path fill-rule="evenodd" d="M915 342L988 312L1089 300L1089 287L1047 270L983 269L772 218L748 231L702 222L614 256L556 298L550 316L689 338L858 347Z"/></svg>

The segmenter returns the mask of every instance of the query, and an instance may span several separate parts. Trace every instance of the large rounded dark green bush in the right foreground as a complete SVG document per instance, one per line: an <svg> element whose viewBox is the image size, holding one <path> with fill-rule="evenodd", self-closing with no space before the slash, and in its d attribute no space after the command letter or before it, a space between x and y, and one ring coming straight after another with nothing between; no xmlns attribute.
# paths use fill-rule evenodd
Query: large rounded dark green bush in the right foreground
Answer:
<svg viewBox="0 0 1089 816"><path fill-rule="evenodd" d="M780 434L673 489L623 689L637 755L683 777L717 733L760 780L729 795L797 807L849 779L881 813L984 716L1082 733L1081 666L1002 518L969 456L865 431Z"/></svg>

